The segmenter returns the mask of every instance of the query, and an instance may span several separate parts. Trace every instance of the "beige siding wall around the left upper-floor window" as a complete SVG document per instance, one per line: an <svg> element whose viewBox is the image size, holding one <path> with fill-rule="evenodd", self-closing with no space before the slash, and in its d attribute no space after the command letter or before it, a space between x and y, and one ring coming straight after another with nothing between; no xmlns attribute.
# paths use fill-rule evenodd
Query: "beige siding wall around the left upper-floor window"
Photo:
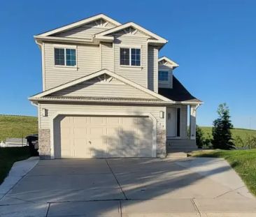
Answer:
<svg viewBox="0 0 256 217"><path fill-rule="evenodd" d="M45 43L45 90L101 69L99 45L77 45L77 68L55 66L55 45Z"/></svg>

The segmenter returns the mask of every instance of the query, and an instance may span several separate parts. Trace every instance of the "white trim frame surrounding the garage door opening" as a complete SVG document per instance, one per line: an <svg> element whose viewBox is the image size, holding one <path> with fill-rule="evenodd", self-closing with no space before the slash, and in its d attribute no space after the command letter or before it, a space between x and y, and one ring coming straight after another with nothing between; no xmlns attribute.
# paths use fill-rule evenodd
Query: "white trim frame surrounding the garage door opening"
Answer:
<svg viewBox="0 0 256 217"><path fill-rule="evenodd" d="M50 118L50 158L55 158L55 147L54 147L54 124L55 118L59 115L99 115L99 116L138 116L138 117L150 117L153 123L152 129L152 157L157 157L157 119L151 113L136 112L55 112Z"/></svg>

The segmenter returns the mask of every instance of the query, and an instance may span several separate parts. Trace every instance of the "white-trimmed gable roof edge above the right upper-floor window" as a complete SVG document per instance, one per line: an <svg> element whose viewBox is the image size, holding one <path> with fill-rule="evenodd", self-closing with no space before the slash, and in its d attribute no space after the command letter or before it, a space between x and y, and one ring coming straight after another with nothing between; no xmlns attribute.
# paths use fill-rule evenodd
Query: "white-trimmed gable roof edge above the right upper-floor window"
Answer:
<svg viewBox="0 0 256 217"><path fill-rule="evenodd" d="M122 29L127 29L129 27L132 27L134 29L138 29L139 31L145 33L146 35L148 35L151 39L149 39L148 41L149 42L152 42L152 43L167 43L168 40L162 38L161 36L157 36L157 34L155 33L152 33L152 31L148 31L147 29L139 26L138 24L134 23L134 22L127 22L125 24L122 24L118 27L114 27L112 29L108 29L106 31L102 31L100 33L97 33L95 34L95 38L101 38L101 37L104 37L104 38L113 38L111 36L108 36L109 34L112 34L112 33L115 33L115 32L118 32L118 31L121 31Z"/></svg>

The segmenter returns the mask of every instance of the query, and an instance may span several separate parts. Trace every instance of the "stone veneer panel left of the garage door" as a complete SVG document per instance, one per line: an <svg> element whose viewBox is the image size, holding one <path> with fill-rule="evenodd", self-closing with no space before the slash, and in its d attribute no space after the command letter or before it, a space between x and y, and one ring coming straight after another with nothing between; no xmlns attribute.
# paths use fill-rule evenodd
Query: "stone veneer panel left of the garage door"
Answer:
<svg viewBox="0 0 256 217"><path fill-rule="evenodd" d="M38 152L41 159L50 159L50 129L38 130Z"/></svg>

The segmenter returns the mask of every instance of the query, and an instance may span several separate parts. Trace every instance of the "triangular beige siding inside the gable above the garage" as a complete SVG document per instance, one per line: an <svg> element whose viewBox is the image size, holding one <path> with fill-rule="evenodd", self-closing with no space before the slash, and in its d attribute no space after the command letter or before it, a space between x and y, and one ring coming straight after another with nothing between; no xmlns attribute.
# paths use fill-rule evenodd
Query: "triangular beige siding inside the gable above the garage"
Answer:
<svg viewBox="0 0 256 217"><path fill-rule="evenodd" d="M109 83L82 82L73 87L63 89L52 93L51 96L83 96L83 97L106 97L106 98L151 98L155 99L148 93L138 90L134 87L124 84L118 80L111 80Z"/></svg>

